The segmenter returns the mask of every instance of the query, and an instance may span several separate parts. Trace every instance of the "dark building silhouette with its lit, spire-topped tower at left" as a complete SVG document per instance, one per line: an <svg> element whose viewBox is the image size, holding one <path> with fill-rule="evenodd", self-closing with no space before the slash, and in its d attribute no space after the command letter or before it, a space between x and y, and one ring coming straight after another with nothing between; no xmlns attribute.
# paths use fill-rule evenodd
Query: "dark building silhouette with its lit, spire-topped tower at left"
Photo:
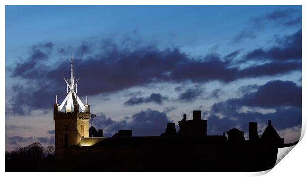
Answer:
<svg viewBox="0 0 307 177"><path fill-rule="evenodd" d="M77 82L65 80L67 95L53 105L55 158L71 171L263 171L276 162L277 148L284 144L271 121L259 138L257 123L249 123L249 140L238 129L221 135L207 135L207 120L194 110L178 122L167 123L160 136L133 136L133 130L119 130L103 137L91 126L90 105L77 96ZM76 82L75 82L76 81ZM68 88L70 91L68 91ZM64 105L66 106L64 107ZM81 109L79 109L79 107ZM64 110L62 110L64 109ZM85 163L92 168L84 168ZM68 170L69 171L69 170Z"/></svg>

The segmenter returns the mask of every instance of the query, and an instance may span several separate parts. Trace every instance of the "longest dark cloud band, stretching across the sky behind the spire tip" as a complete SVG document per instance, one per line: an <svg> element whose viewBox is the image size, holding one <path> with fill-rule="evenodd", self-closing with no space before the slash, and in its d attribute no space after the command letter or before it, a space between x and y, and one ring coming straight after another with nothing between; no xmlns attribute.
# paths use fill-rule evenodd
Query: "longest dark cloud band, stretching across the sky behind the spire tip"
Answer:
<svg viewBox="0 0 307 177"><path fill-rule="evenodd" d="M297 42L298 37L295 36L300 35L280 38L279 41L276 41L278 44L276 46L282 46L281 49L291 48L288 45L299 43ZM70 55L65 61L58 60L58 65L47 67L44 62L50 60L48 53L52 45L31 47L29 57L12 67L10 77L19 77L26 82L13 86L15 94L9 100L10 105L6 106L7 114L29 115L33 109L51 109L50 105L54 103L55 94L58 95L59 100L65 96L65 91L63 91L65 84L62 77L69 77ZM82 45L87 45L87 43ZM46 48L46 46L51 47ZM300 47L302 50L302 45ZM271 49L263 49L263 51L270 53ZM234 57L237 54L238 52L235 52L231 55ZM78 85L80 96L107 94L161 82L181 84L220 81L227 83L242 78L274 76L302 69L301 60L285 61L285 58L282 61L272 61L240 69L232 66L229 61L223 61L218 54L211 53L195 58L181 52L178 48L161 50L149 45L131 49L131 47L121 47L111 39L102 41L97 54L89 52L86 56L83 59L76 56L74 60L74 75L77 78L81 77ZM270 54L270 56L273 55ZM274 58L277 58L277 55L274 55ZM293 57L289 59L291 58ZM96 87L88 87L93 83L96 83ZM180 92L179 99L181 100L193 100L196 95L200 94L197 90Z"/></svg>

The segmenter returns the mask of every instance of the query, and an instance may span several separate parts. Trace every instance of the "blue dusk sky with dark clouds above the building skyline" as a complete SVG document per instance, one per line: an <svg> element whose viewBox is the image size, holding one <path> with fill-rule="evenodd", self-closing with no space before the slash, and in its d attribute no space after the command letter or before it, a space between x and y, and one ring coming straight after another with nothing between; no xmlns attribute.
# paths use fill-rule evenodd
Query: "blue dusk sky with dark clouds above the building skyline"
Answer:
<svg viewBox="0 0 307 177"><path fill-rule="evenodd" d="M54 144L71 52L93 126L160 135L202 110L209 135L302 126L301 5L7 5L5 150Z"/></svg>

